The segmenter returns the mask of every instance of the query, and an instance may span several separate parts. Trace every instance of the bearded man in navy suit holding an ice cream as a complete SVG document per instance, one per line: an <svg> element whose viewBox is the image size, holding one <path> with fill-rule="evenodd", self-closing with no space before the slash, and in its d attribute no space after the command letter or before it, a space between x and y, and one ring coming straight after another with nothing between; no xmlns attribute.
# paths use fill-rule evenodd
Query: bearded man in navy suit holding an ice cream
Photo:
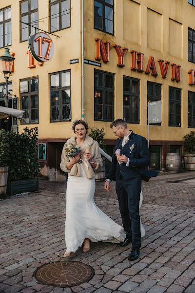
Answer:
<svg viewBox="0 0 195 293"><path fill-rule="evenodd" d="M151 171L145 170L145 167L150 165L146 139L129 130L127 123L122 119L115 120L110 127L118 139L104 188L109 190L110 182L116 180L119 209L126 232L124 242L118 246L124 247L132 242L132 251L128 259L135 260L139 256L141 247L139 218L141 179L148 181L151 176L155 175ZM120 149L118 160L115 154L116 149Z"/></svg>

